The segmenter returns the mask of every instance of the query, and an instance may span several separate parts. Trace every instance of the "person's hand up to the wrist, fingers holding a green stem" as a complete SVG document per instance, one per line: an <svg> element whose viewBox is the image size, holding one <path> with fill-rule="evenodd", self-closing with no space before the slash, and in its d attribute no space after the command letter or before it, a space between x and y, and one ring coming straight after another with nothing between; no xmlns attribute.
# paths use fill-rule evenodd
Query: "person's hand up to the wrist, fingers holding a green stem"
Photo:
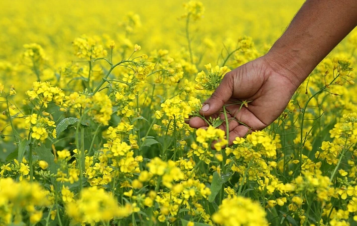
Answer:
<svg viewBox="0 0 357 226"><path fill-rule="evenodd" d="M231 145L236 137L243 137L250 130L262 130L279 117L300 85L295 81L297 77L269 56L260 57L228 72L203 103L200 114L206 119L219 117L224 120L225 106ZM248 106L242 105L243 101L249 102ZM208 126L200 117L192 117L189 125L193 128ZM226 123L218 128L226 131Z"/></svg>

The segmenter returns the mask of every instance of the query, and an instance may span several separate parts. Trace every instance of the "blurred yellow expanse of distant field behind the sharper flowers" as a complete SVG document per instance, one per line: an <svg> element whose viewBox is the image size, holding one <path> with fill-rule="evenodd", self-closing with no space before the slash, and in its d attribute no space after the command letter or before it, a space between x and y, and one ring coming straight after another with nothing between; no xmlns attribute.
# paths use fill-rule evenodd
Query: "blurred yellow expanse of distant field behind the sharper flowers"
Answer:
<svg viewBox="0 0 357 226"><path fill-rule="evenodd" d="M27 43L40 44L53 60L72 54L71 42L82 34L107 35L117 42L130 13L141 26L130 36L144 51L174 50L186 45L185 1L0 1L0 60L15 60ZM194 40L213 40L218 49L226 38L250 36L261 47L284 31L302 0L202 1L201 20L190 24Z"/></svg>

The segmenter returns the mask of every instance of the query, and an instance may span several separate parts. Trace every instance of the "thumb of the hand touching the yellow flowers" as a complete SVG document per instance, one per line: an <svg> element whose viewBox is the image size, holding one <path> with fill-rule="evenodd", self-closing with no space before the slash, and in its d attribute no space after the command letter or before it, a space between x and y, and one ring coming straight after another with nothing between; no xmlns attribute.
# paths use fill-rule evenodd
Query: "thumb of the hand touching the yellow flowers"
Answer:
<svg viewBox="0 0 357 226"><path fill-rule="evenodd" d="M217 113L233 94L233 73L228 72L221 83L202 106L200 111L203 116L210 116Z"/></svg>

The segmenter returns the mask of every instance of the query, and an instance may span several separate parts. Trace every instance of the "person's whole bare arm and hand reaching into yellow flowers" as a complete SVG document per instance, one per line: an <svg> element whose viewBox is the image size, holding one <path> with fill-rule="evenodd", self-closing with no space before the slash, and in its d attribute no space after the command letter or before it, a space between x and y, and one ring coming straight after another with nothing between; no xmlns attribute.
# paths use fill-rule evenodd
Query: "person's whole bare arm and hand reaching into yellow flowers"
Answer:
<svg viewBox="0 0 357 226"><path fill-rule="evenodd" d="M200 111L220 117L226 105L229 144L261 130L284 111L292 95L316 65L357 25L357 0L307 0L268 54L228 72ZM282 89L282 87L284 87ZM242 108L233 104L250 101ZM207 126L193 117L193 128ZM220 129L226 131L225 123Z"/></svg>

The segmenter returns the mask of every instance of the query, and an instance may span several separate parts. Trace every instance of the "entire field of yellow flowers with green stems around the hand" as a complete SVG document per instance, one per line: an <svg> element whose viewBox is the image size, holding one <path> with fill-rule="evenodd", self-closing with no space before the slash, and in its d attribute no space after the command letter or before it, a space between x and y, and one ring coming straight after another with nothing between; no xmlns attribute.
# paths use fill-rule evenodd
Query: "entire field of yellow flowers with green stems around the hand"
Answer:
<svg viewBox="0 0 357 226"><path fill-rule="evenodd" d="M0 226L357 225L356 29L264 130L199 114L302 4L1 1Z"/></svg>

